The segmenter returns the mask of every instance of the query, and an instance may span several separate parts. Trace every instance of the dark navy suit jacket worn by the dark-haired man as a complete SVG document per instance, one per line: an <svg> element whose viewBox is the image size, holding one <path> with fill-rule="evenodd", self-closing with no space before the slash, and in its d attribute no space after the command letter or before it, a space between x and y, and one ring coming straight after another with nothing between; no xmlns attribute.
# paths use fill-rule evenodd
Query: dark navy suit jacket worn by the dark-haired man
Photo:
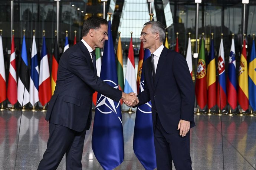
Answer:
<svg viewBox="0 0 256 170"><path fill-rule="evenodd" d="M119 101L122 91L103 82L95 73L89 51L82 41L68 48L59 61L57 82L46 120L81 132L92 120L92 94Z"/></svg>

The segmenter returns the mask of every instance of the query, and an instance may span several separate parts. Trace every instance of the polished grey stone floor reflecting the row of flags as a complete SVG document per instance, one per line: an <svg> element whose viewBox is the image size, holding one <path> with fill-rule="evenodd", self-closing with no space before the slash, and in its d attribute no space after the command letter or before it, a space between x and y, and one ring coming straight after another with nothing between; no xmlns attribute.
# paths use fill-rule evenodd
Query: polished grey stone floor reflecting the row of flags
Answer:
<svg viewBox="0 0 256 170"><path fill-rule="evenodd" d="M20 110L0 112L0 169L14 169ZM135 113L122 114L124 126L124 162L117 170L144 169L132 149ZM195 115L196 127L191 130L190 151L194 170L255 170L256 116ZM16 170L35 170L42 159L49 137L45 112L24 111L21 120ZM83 169L102 169L91 148L92 128L87 131L83 148ZM63 157L58 170L65 169Z"/></svg>

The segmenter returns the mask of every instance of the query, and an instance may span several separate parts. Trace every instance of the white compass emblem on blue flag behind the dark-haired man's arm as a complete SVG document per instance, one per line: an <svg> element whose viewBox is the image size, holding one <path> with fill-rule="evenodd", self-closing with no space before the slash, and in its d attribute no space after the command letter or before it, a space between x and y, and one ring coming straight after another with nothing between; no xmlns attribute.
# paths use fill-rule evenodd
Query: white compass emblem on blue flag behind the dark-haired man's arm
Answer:
<svg viewBox="0 0 256 170"><path fill-rule="evenodd" d="M114 88L118 89L118 85L115 82L111 80L104 80L104 82L109 82L110 84L114 84ZM118 108L119 104L120 104L120 101L114 102L112 99L101 94L101 96L99 97L96 103L95 109L98 109L99 112L103 114L115 113L118 116L116 109ZM118 116L118 118L122 123L120 116Z"/></svg>

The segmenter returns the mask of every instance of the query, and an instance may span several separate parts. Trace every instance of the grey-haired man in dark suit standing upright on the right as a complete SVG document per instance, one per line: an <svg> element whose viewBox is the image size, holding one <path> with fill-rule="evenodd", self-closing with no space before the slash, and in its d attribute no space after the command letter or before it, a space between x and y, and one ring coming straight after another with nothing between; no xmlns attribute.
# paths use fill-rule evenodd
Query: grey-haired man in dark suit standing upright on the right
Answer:
<svg viewBox="0 0 256 170"><path fill-rule="evenodd" d="M164 47L165 28L144 24L140 40L151 57L144 63L144 91L139 104L152 102L157 169L190 170L190 128L194 123L194 85L185 58Z"/></svg>

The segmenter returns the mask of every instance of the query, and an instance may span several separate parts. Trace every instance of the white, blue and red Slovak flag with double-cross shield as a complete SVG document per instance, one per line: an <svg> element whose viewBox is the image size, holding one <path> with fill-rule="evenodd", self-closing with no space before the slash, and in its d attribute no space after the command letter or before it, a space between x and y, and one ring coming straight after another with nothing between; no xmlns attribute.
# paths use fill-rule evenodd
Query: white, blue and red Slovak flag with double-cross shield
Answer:
<svg viewBox="0 0 256 170"><path fill-rule="evenodd" d="M223 109L227 105L227 91L226 91L226 73L225 73L225 57L223 38L220 40L220 50L218 57L218 68L219 78L217 79L217 97L216 103L219 109Z"/></svg>

